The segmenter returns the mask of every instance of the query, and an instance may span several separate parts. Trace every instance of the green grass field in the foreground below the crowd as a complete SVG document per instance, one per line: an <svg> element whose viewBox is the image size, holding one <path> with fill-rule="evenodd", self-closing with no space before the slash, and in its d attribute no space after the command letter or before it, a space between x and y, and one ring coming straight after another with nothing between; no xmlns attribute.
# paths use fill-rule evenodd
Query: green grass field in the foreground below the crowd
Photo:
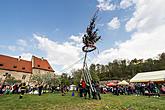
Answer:
<svg viewBox="0 0 165 110"><path fill-rule="evenodd" d="M89 100L61 94L0 96L0 110L165 110L165 97L102 95L102 100Z"/></svg>

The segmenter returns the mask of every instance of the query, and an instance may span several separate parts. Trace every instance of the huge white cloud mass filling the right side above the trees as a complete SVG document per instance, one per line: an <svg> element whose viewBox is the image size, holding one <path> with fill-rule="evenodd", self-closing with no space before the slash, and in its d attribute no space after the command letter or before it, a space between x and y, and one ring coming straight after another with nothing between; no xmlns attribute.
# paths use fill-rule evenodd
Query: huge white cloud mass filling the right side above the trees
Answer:
<svg viewBox="0 0 165 110"><path fill-rule="evenodd" d="M125 42L101 52L96 63L108 63L114 59L153 58L165 52L165 1L137 0L135 12L126 23L127 31L135 31Z"/></svg>

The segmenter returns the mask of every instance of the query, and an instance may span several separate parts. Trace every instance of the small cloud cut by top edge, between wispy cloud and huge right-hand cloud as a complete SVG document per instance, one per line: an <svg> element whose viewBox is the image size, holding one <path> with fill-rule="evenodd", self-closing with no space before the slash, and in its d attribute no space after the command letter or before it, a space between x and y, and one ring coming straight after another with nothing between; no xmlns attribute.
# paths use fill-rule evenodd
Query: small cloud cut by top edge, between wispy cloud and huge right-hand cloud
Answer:
<svg viewBox="0 0 165 110"><path fill-rule="evenodd" d="M134 0L121 0L120 8L121 9L126 9L126 8L132 6L133 3L134 3Z"/></svg>

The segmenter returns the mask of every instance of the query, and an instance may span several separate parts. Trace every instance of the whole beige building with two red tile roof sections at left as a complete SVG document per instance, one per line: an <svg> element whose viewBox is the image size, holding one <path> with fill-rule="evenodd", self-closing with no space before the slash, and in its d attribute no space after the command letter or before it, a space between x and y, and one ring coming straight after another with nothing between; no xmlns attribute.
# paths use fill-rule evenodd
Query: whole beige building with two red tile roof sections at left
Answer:
<svg viewBox="0 0 165 110"><path fill-rule="evenodd" d="M29 82L33 74L51 74L54 70L46 59L32 56L32 61L0 55L0 79L3 81L8 74L16 80Z"/></svg>

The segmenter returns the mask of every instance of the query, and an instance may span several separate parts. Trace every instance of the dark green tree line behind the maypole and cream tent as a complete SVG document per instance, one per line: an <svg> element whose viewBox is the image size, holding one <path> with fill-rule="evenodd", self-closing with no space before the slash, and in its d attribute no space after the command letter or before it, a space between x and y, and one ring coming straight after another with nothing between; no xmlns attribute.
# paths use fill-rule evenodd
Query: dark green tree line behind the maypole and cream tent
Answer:
<svg viewBox="0 0 165 110"><path fill-rule="evenodd" d="M165 53L159 55L159 58L147 60L114 60L107 65L91 64L89 71L95 80L127 80L131 79L137 73L165 70ZM73 78L80 81L82 70L74 70Z"/></svg>

